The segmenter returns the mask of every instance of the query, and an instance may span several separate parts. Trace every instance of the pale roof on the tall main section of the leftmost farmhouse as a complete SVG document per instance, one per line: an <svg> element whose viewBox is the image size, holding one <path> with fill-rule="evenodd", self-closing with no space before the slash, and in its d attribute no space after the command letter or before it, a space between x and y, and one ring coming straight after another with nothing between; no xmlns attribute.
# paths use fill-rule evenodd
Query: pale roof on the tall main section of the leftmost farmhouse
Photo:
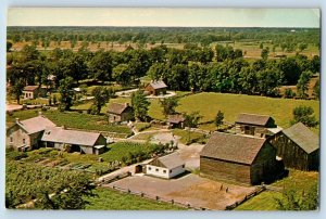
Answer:
<svg viewBox="0 0 326 219"><path fill-rule="evenodd" d="M22 127L28 134L42 131L48 127L55 127L55 124L42 115L26 120L16 121L16 125Z"/></svg>

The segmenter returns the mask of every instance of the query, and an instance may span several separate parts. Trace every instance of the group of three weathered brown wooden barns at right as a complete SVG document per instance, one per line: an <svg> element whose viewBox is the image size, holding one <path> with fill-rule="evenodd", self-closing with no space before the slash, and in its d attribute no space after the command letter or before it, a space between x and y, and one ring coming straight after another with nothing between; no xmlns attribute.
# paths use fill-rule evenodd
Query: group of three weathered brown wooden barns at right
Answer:
<svg viewBox="0 0 326 219"><path fill-rule="evenodd" d="M319 141L299 123L281 130L269 116L240 114L236 134L215 132L200 154L200 171L246 184L272 182L284 168L318 170Z"/></svg>

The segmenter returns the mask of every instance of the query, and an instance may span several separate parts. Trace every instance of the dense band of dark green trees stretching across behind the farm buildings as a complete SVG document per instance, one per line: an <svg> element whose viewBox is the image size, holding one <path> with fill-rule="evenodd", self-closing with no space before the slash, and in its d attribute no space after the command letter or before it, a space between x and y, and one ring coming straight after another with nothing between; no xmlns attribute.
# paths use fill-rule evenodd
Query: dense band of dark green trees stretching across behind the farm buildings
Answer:
<svg viewBox="0 0 326 219"><path fill-rule="evenodd" d="M279 86L296 85L301 75L303 85L311 74L302 73L317 73L319 62L318 56L309 60L297 55L281 60L263 56L249 63L242 59L241 50L220 44L215 51L187 43L183 50L160 46L151 50L128 47L124 52L90 52L80 48L76 53L54 49L49 55L26 46L8 56L8 79L17 100L25 85L49 86L49 75L55 76L58 87L66 82L78 85L84 79L138 85L139 78L148 74L154 80L163 79L172 90L277 95ZM66 80L67 77L72 79Z"/></svg>

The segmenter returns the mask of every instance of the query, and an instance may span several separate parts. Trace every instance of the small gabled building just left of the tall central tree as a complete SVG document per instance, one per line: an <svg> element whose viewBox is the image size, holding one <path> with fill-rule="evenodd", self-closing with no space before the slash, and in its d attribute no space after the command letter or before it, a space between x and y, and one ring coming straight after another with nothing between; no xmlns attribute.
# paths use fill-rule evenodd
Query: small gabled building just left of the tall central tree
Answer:
<svg viewBox="0 0 326 219"><path fill-rule="evenodd" d="M134 119L134 108L128 103L111 103L108 114L110 123L122 123Z"/></svg>

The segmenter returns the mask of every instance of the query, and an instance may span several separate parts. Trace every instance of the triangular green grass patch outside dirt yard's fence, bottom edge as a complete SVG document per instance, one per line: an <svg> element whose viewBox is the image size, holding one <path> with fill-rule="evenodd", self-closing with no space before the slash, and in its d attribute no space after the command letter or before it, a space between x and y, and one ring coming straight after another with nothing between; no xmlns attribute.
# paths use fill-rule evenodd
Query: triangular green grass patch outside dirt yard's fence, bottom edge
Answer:
<svg viewBox="0 0 326 219"><path fill-rule="evenodd" d="M89 202L88 210L183 210L185 208L168 203L124 194L110 189L99 188L95 197L85 197Z"/></svg>

